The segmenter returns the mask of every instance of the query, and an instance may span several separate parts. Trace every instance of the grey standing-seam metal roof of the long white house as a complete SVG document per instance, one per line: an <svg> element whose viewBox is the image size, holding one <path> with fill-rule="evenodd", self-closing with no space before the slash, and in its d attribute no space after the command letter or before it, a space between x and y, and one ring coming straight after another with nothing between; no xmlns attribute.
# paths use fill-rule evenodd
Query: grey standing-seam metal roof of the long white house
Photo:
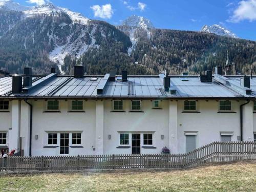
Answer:
<svg viewBox="0 0 256 192"><path fill-rule="evenodd" d="M95 77L95 76L94 76ZM12 94L12 77L0 78L0 98L255 98L256 78L251 79L251 95L233 89L217 77L212 82L201 82L198 76L169 76L170 89L176 94L165 91L163 76L128 76L127 81L109 80L91 76L75 78L65 75L33 75L31 89L24 88L20 94ZM226 78L226 77L223 77ZM240 86L240 77L229 77L229 82ZM242 89L242 88L241 88ZM101 90L101 92L99 91Z"/></svg>

